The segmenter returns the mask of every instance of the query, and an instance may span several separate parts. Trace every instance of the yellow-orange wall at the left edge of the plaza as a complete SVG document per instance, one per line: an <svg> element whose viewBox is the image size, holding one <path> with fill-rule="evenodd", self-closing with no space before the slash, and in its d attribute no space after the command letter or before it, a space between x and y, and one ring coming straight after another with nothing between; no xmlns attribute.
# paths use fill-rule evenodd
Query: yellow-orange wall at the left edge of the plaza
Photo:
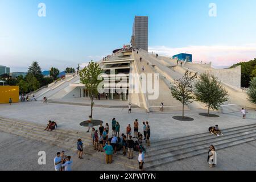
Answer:
<svg viewBox="0 0 256 182"><path fill-rule="evenodd" d="M0 86L0 104L19 102L19 86Z"/></svg>

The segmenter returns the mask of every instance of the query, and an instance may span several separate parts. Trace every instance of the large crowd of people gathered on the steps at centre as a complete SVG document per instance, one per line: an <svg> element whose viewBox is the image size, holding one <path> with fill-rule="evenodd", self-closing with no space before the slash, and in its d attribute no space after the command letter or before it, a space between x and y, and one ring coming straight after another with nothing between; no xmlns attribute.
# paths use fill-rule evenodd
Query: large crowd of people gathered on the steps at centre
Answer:
<svg viewBox="0 0 256 182"><path fill-rule="evenodd" d="M109 124L106 123L105 127L100 123L100 127L96 130L92 128L92 143L94 150L98 152L105 152L105 162L106 164L111 164L113 155L116 155L118 151L122 150L122 155L127 154L128 159L133 159L133 151L139 151L139 168L143 168L144 163L144 152L146 152L143 146L143 140L146 140L147 146L150 146L150 125L147 122L143 123L143 134L139 132L139 122L138 119L134 121L134 137L132 136L131 125L126 127L126 135L121 134L120 124L115 118L112 119L112 137ZM143 139L144 135L144 139ZM135 141L134 141L135 139ZM77 150L79 151L79 158L82 159L82 142L81 139L77 142Z"/></svg>

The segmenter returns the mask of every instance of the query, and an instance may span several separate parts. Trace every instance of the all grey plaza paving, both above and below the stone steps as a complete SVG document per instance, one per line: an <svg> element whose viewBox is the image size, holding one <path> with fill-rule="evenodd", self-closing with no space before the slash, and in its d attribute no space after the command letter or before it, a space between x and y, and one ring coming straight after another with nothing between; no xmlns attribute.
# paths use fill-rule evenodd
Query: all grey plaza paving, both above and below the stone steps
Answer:
<svg viewBox="0 0 256 182"><path fill-rule="evenodd" d="M76 101L74 101L76 102ZM104 101L101 101L104 102ZM142 131L142 121L150 122L151 141L166 138L184 137L193 134L206 133L209 126L219 125L221 129L229 129L236 126L251 125L256 123L256 111L248 110L246 119L242 119L241 113L221 114L213 111L213 114L220 115L218 118L209 118L199 115L205 113L204 109L192 109L185 111L185 115L195 120L190 122L176 121L172 119L175 115L180 115L181 111L168 111L164 113L154 112L146 113L140 108L133 108L132 114L127 113L126 107L109 108L108 105L115 101L105 101L105 106L94 107L93 113L95 119L101 119L108 122L111 127L112 118L116 118L121 125L120 133L126 133L126 126L130 123L133 127L134 119L138 119ZM117 101L117 104L122 101ZM48 120L57 122L59 129L72 129L85 132L86 127L79 124L88 119L90 114L89 106L76 104L43 104L42 102L20 102L17 104L0 105L0 117L15 119L47 125ZM98 129L98 126L96 126ZM14 134L0 132L0 160L5 165L1 165L0 170L53 170L53 158L57 151L65 151L73 159L73 170L127 170L120 163L113 163L111 166L104 163L92 155L85 155L84 160L77 158L74 150L67 150L60 146L52 146L38 140L28 139ZM225 136L225 135L224 135ZM11 141L11 142L10 142ZM197 155L183 160L177 160L164 166L156 167L156 170L255 170L254 153L256 142L243 143L238 146L217 150L218 165L209 168L207 160L207 150L205 155ZM85 148L86 150L86 148ZM46 151L47 164L38 164L38 152ZM242 157L241 157L242 156ZM137 158L137 156L135 156ZM115 159L114 159L115 160ZM118 160L118 159L117 159ZM129 169L129 168L128 168ZM129 169L131 170L131 169ZM151 169L150 169L151 170Z"/></svg>

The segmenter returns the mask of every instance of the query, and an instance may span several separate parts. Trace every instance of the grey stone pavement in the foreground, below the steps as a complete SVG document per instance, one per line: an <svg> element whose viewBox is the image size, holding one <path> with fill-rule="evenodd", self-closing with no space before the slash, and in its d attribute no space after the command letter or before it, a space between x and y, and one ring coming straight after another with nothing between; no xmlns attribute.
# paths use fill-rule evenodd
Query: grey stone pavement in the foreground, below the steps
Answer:
<svg viewBox="0 0 256 182"><path fill-rule="evenodd" d="M52 146L16 135L0 132L0 170L12 171L54 171L53 159L56 152L63 151L63 148ZM11 142L10 142L11 141ZM241 144L239 146L217 150L217 166L209 168L207 163L207 152L205 155L195 156L166 164L154 170L172 171L222 171L222 170L255 170L256 142ZM38 152L46 152L46 165L38 164ZM98 158L87 155L84 159L77 159L73 151L64 150L65 154L71 155L73 160L72 169L76 171L120 171L122 166L118 164L105 164Z"/></svg>

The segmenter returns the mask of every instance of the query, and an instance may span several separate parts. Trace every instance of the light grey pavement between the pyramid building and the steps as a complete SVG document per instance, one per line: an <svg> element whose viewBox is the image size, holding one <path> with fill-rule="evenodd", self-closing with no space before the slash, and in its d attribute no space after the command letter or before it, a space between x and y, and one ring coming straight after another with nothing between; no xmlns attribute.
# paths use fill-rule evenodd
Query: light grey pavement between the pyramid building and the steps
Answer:
<svg viewBox="0 0 256 182"><path fill-rule="evenodd" d="M209 126L219 125L220 129L256 123L256 111L249 110L247 119L242 119L241 113L213 114L220 115L219 118L208 118L200 116L205 113L204 109L193 109L185 111L185 115L192 117L195 121L181 122L172 119L180 115L180 111L165 113L146 113L143 109L133 108L132 114L127 114L126 108L94 107L94 118L108 122L115 117L121 125L120 133L126 133L126 126L133 121L139 120L139 130L142 131L142 121L149 121L151 126L151 139L184 137L191 134L205 133ZM90 107L65 104L43 104L42 102L23 102L13 105L0 105L0 117L18 119L19 121L35 122L47 125L48 120L54 120L61 129L74 129L86 131L87 128L79 124L88 119ZM96 127L98 129L98 126Z"/></svg>

